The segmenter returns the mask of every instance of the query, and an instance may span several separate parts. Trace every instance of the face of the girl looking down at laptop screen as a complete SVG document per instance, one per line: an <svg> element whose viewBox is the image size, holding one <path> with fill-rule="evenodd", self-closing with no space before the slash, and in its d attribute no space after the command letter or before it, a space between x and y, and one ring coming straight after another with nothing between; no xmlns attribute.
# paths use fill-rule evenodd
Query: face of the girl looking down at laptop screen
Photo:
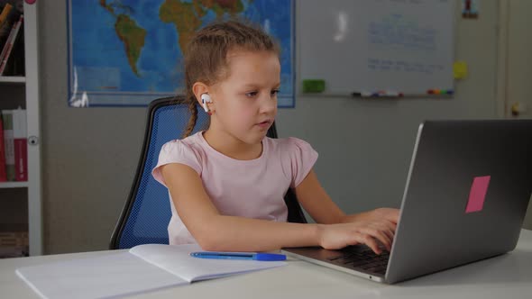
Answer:
<svg viewBox="0 0 532 299"><path fill-rule="evenodd" d="M271 51L233 50L227 65L228 76L209 92L215 103L211 128L247 144L258 143L277 114L279 58Z"/></svg>

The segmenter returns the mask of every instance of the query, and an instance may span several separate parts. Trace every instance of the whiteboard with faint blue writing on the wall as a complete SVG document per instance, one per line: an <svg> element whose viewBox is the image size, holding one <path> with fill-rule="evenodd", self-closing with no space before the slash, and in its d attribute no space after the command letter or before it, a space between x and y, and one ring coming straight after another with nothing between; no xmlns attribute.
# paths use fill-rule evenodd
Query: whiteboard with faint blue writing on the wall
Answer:
<svg viewBox="0 0 532 299"><path fill-rule="evenodd" d="M299 80L326 93L453 89L453 0L298 2Z"/></svg>

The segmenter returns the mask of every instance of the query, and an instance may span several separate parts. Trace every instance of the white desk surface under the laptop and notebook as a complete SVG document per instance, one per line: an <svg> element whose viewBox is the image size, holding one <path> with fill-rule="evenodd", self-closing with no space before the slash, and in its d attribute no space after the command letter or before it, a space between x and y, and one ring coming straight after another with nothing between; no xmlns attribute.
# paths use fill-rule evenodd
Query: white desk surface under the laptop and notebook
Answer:
<svg viewBox="0 0 532 299"><path fill-rule="evenodd" d="M95 257L96 251L32 258L0 259L1 298L39 298L15 275L17 267L72 258ZM130 298L532 298L532 231L523 230L509 254L456 267L398 285L381 285L326 267L290 259L289 266Z"/></svg>

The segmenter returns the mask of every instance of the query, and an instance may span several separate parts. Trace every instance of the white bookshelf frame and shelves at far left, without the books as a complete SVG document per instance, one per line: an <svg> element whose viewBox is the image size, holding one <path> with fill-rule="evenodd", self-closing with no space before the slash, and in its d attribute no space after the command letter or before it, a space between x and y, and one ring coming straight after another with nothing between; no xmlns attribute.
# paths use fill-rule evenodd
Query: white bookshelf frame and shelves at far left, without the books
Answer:
<svg viewBox="0 0 532 299"><path fill-rule="evenodd" d="M38 7L39 1L23 1L25 76L0 76L0 110L18 106L26 109L28 138L28 181L0 182L0 230L2 226L21 224L17 223L19 219L24 222L30 256L42 254ZM2 222L3 219L11 223Z"/></svg>

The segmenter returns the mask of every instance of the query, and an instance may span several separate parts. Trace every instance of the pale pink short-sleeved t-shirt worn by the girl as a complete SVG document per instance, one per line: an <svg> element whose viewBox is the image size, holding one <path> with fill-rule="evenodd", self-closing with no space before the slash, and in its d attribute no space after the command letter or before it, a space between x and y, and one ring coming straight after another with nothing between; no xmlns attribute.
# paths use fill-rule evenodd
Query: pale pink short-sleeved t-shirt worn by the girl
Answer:
<svg viewBox="0 0 532 299"><path fill-rule="evenodd" d="M202 132L164 144L153 177L166 186L161 166L180 163L196 170L218 212L224 215L286 222L289 187L298 186L316 163L316 150L297 138L262 140L261 157L232 159L213 149ZM171 200L170 244L196 243Z"/></svg>

